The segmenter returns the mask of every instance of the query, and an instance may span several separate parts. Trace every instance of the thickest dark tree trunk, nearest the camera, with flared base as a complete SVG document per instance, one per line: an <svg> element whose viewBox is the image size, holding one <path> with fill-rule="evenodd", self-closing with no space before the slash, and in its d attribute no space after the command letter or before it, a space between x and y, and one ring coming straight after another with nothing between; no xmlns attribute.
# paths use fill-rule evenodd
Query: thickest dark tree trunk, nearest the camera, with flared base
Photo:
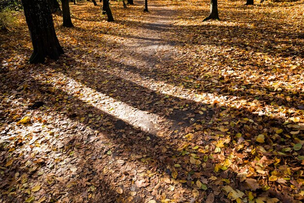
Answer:
<svg viewBox="0 0 304 203"><path fill-rule="evenodd" d="M45 57L57 60L63 49L55 33L49 0L21 0L34 48L30 63L44 62Z"/></svg>

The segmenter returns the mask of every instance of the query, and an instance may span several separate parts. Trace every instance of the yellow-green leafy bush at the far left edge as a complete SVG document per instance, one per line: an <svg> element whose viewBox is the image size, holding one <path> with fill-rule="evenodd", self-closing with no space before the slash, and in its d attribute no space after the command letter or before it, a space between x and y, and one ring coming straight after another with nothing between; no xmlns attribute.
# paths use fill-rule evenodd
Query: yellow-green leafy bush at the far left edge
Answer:
<svg viewBox="0 0 304 203"><path fill-rule="evenodd" d="M17 11L10 8L5 8L0 12L0 29L5 30L7 28L13 28L18 25L18 19L16 17Z"/></svg>

